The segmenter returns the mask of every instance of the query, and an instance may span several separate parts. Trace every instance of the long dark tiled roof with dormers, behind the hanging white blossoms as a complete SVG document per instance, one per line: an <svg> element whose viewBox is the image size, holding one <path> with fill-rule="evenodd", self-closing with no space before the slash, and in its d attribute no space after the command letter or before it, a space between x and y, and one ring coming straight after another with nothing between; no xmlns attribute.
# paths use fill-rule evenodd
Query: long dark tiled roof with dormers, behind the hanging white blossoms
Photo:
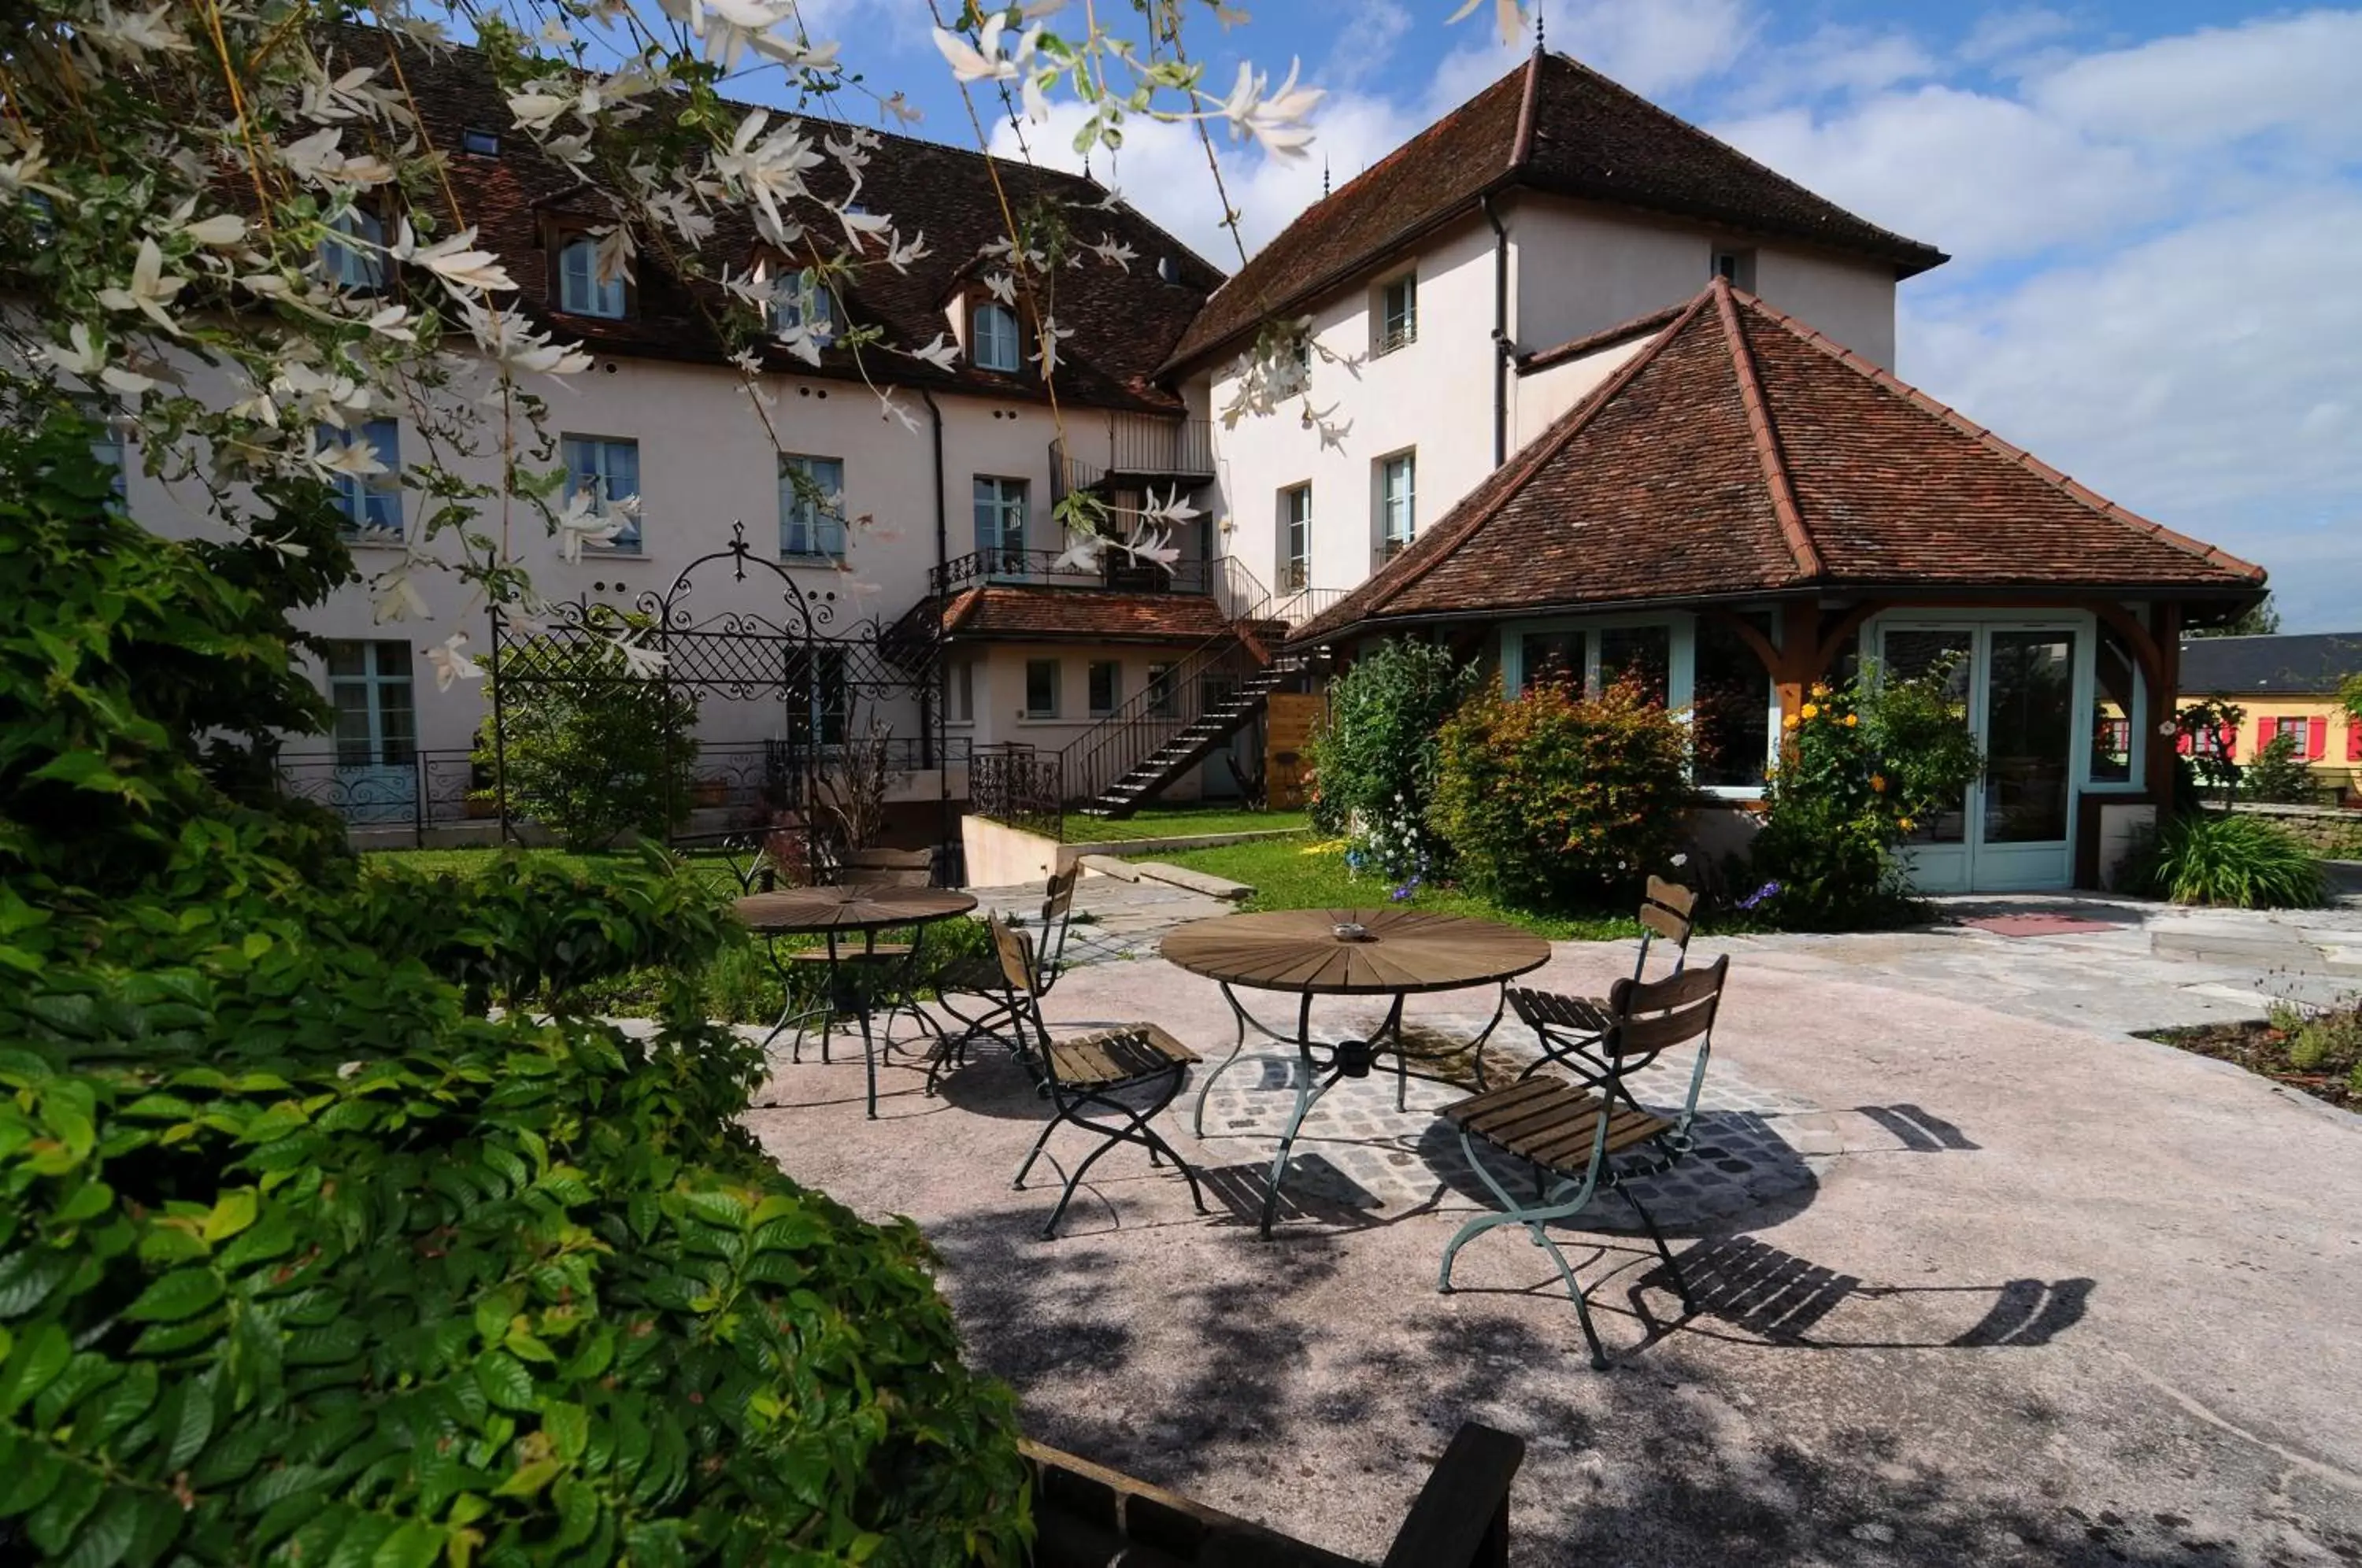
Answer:
<svg viewBox="0 0 2362 1568"><path fill-rule="evenodd" d="M342 43L357 61L376 61L387 50L383 33L361 28L347 28ZM652 250L642 250L638 262L631 319L607 321L560 312L548 227L567 217L602 222L600 196L586 191L557 161L546 158L531 137L515 130L484 54L465 47L430 54L402 43L399 57L428 139L432 146L451 149L451 187L465 220L477 224L482 243L501 255L531 314L600 352L664 359L723 357L723 345L709 326L709 312L713 319L723 314L723 293L706 281L680 281ZM834 123L810 125L815 139L843 135ZM494 132L498 156L458 151L465 130ZM872 250L872 260L843 290L843 307L855 326L883 326L886 342L902 347L926 345L947 328L945 307L968 281L978 250L1004 236L1001 205L992 187L992 170L999 170L1013 210L1023 213L1037 201L1058 203L1077 243L1087 246L1110 234L1138 253L1129 272L1089 255L1079 267L1056 269L1051 314L1058 326L1075 328L1061 345L1058 397L1094 406L1179 411L1179 399L1157 385L1155 368L1221 281L1219 269L1138 213L1101 210L1096 203L1105 201L1105 189L1079 175L1037 170L1006 158L987 161L983 153L888 132L879 132L879 139L864 170L862 203L890 213L905 236L924 231L928 255L907 272L895 272ZM822 194L841 196L846 175L827 161L813 170L813 184ZM446 213L437 217L449 222ZM817 203L808 203L796 217L815 234L839 234L836 217ZM704 272L718 276L725 262L744 272L753 255L751 224L725 215L699 260ZM1179 283L1157 279L1160 257L1172 257ZM1037 375L1001 375L966 364L942 373L881 347L869 347L864 354L881 385L1044 397ZM824 352L822 371L777 349L768 349L768 357L779 371L798 375L857 375L853 354L843 349Z"/></svg>

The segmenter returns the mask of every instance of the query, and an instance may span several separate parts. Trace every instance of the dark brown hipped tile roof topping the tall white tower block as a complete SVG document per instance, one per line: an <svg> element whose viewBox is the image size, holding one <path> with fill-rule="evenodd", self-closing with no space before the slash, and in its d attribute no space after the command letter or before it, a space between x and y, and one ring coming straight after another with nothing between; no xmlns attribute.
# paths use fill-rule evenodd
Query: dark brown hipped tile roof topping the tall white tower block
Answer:
<svg viewBox="0 0 2362 1568"><path fill-rule="evenodd" d="M1814 196L1590 66L1535 52L1257 250L1205 302L1167 368L1311 302L1507 187L1854 250L1894 262L1897 276L1946 260L1934 246Z"/></svg>

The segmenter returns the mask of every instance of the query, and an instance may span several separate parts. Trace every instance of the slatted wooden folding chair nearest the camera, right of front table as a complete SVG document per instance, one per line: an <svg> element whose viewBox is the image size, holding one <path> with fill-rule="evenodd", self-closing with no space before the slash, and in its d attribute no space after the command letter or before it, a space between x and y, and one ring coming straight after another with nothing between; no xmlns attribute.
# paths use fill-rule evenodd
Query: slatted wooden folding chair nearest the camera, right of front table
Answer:
<svg viewBox="0 0 2362 1568"><path fill-rule="evenodd" d="M1606 1351L1599 1348L1599 1332L1592 1327L1592 1308L1583 1301L1583 1285L1566 1254L1549 1240L1547 1223L1573 1219L1599 1193L1620 1190L1639 1223L1649 1228L1649 1240L1665 1259L1672 1289L1689 1308L1689 1282L1682 1280L1679 1263L1665 1247L1665 1235L1656 1228L1649 1209L1627 1183L1642 1176L1670 1171L1689 1157L1689 1124L1698 1115L1698 1089L1705 1084L1705 1058L1715 1041L1715 1008L1722 1006L1722 978L1729 973L1729 956L1715 959L1708 968L1684 968L1663 980L1618 980L1609 992L1606 1027L1594 1046L1606 1065L1604 1082L1575 1089L1557 1077L1521 1077L1514 1084L1488 1089L1457 1105L1443 1108L1443 1119L1460 1129L1460 1148L1469 1169L1500 1200L1500 1214L1479 1214L1460 1226L1443 1249L1443 1273L1438 1289L1453 1287L1453 1259L1460 1249L1493 1230L1495 1226L1523 1226L1533 1244L1549 1254L1566 1280L1566 1294L1575 1299L1575 1315L1583 1318L1583 1337L1592 1344L1592 1365L1606 1370ZM1698 1044L1698 1065L1689 1072L1689 1098L1675 1119L1644 1110L1625 1089L1623 1074L1632 1063L1656 1060L1660 1051ZM1523 1159L1533 1169L1533 1202L1519 1202L1509 1188L1476 1157L1476 1143Z"/></svg>

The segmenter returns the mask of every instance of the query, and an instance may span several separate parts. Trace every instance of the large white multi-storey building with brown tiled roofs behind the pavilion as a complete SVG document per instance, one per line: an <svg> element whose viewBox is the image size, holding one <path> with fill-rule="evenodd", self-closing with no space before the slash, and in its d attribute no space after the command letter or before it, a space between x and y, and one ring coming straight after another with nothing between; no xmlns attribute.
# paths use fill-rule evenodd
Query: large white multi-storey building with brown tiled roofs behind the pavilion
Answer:
<svg viewBox="0 0 2362 1568"><path fill-rule="evenodd" d="M709 279L668 276L642 248L631 286L602 286L588 236L602 215L508 128L484 61L456 50L411 54L406 68L432 144L456 149L479 243L531 316L595 354L550 394L548 460L565 463L569 486L638 496L624 531L579 564L557 557L531 512L479 527L522 531L513 543L548 597L624 609L744 536L749 557L699 567L671 600L676 616L801 626L808 614L822 638L876 621L888 633L869 647L916 671L898 680L829 654L784 680L758 671L704 687L702 798L732 808L761 793L765 741L824 749L869 716L895 727L909 803L964 801L968 760L1009 746L1053 760L1070 798L1221 791L1235 775L1224 751L1233 737L1242 756L1252 749L1259 694L1292 673L1273 664L1278 633L1368 579L1637 354L1708 276L1885 366L1897 281L1944 260L1535 52L1233 279L1091 179L999 161L1009 201L1056 210L1075 248L1051 267L1056 321L1072 338L1049 380L1027 354L1032 324L990 290L987 248L1004 241L994 170L971 151L881 137L862 201L898 231L924 231L926 255L867 264L794 309L836 335L876 326L890 345L947 333L957 361L879 347L855 359L831 345L810 366L772 342L758 347L756 411L716 335L723 302ZM789 267L727 227L702 262L709 274ZM1294 411L1219 418L1240 349L1273 319L1311 321L1309 401L1332 439ZM907 420L879 397L888 375ZM368 439L406 456L428 437L390 420ZM841 508L815 508L789 465ZM458 468L496 479L491 456ZM1077 571L1056 564L1068 541L1051 515L1070 489L1117 512L1181 494L1200 517L1174 538L1172 569L1110 555ZM189 517L172 486L139 472L130 503L165 527ZM354 486L345 503L364 571L399 564L425 498ZM487 656L484 616L380 623L368 588L352 586L312 631L328 642L338 732L291 760L298 784L387 829L468 815L487 694L482 682L439 690L428 649L465 631ZM787 656L761 640L727 656L716 647L706 666ZM676 649L673 661L697 656Z"/></svg>

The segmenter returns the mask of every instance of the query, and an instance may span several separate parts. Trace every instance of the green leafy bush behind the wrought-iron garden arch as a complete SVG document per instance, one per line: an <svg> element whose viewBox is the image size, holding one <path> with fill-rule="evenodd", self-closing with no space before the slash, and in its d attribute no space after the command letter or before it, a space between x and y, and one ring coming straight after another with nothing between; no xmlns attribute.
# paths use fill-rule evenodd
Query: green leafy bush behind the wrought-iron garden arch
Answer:
<svg viewBox="0 0 2362 1568"><path fill-rule="evenodd" d="M687 822L692 692L633 678L607 635L529 638L501 652L491 680L505 758L479 739L477 763L505 767L510 812L534 817L569 850L602 850L633 831L664 838Z"/></svg>

